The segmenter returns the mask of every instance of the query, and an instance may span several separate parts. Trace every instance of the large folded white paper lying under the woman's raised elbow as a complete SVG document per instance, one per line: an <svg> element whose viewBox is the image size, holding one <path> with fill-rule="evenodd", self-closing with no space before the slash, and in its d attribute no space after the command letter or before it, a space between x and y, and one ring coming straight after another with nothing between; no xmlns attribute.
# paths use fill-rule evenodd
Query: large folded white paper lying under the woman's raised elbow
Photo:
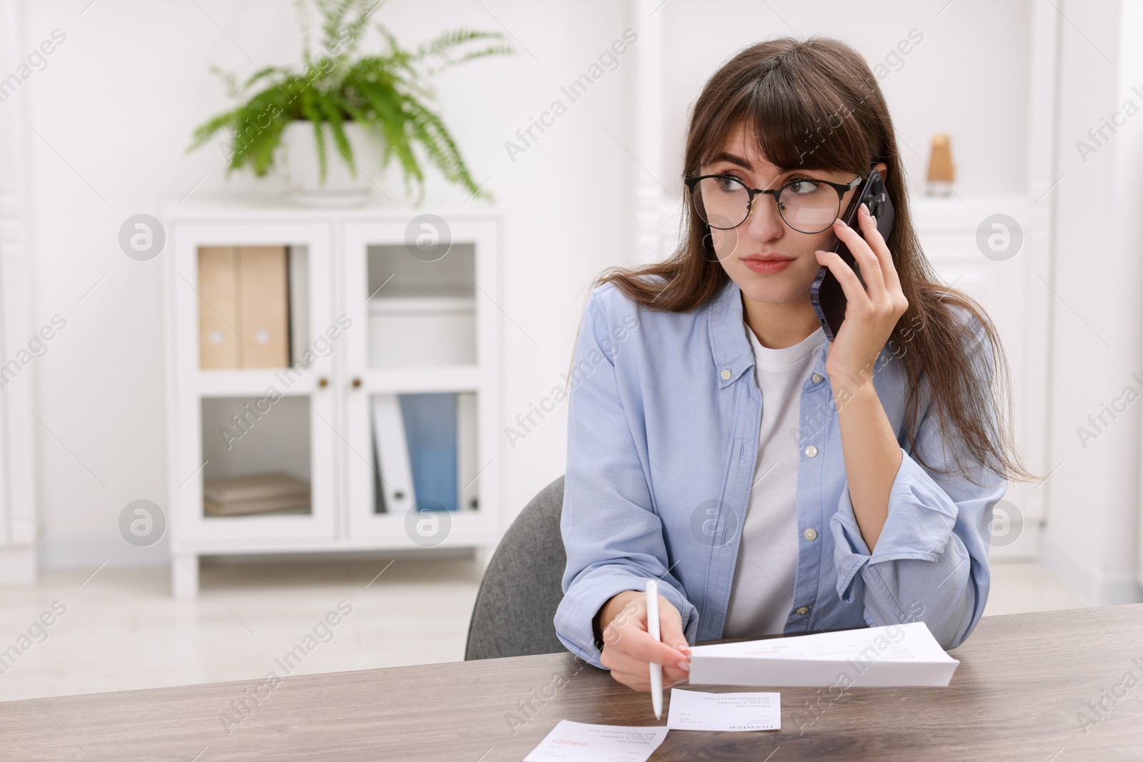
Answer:
<svg viewBox="0 0 1143 762"><path fill-rule="evenodd" d="M924 621L695 645L692 684L791 688L948 685L960 664Z"/></svg>

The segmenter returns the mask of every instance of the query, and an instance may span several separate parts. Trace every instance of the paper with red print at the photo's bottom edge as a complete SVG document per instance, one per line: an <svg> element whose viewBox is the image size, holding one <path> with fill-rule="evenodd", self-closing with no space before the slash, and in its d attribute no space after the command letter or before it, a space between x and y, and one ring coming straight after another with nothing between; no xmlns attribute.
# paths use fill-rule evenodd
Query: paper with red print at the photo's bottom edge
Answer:
<svg viewBox="0 0 1143 762"><path fill-rule="evenodd" d="M666 730L662 725L632 728L560 720L523 762L647 762L666 738Z"/></svg>

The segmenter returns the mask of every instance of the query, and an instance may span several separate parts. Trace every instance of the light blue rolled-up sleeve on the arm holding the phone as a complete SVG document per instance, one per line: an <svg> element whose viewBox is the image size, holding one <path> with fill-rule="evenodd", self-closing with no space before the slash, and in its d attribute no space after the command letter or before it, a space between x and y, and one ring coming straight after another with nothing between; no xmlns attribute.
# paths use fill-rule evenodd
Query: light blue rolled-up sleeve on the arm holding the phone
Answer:
<svg viewBox="0 0 1143 762"><path fill-rule="evenodd" d="M976 334L976 346L983 347L991 370L991 348L981 340L982 331ZM935 415L928 412L920 417L914 451L943 468L950 463L943 457L948 442L942 441ZM933 474L904 448L901 452L888 516L872 554L857 526L848 486L841 490L830 519L837 593L849 602L862 587L864 617L871 627L925 621L943 648L953 649L968 637L984 611L990 579L989 524L1007 480L967 463L967 475ZM858 573L863 585L857 584Z"/></svg>

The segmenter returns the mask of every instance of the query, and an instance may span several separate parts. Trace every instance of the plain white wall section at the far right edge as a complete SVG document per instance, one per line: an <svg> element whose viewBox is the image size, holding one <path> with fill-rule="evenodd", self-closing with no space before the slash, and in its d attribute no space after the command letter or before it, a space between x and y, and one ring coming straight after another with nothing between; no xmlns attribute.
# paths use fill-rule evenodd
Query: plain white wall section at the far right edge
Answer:
<svg viewBox="0 0 1143 762"><path fill-rule="evenodd" d="M1053 411L1045 566L1085 604L1143 600L1135 581L1140 403L1106 425L1088 422L1126 387L1143 391L1140 358L1143 240L1143 117L1135 115L1094 154L1077 143L1127 99L1143 107L1137 3L1068 2L1063 26L1056 174ZM1122 119L1119 119L1122 121ZM1045 273L1047 279L1048 274ZM1125 404L1119 404L1125 407ZM1084 441L1079 428L1097 434ZM1086 439L1086 438L1085 438Z"/></svg>

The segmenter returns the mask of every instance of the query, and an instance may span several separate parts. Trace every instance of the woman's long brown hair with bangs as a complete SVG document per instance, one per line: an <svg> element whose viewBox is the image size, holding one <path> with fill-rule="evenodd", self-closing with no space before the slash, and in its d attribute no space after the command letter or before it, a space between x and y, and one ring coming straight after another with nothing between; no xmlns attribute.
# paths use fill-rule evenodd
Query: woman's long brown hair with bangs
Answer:
<svg viewBox="0 0 1143 762"><path fill-rule="evenodd" d="M784 170L866 175L873 163L886 162L886 186L896 211L887 243L909 300L909 310L887 346L905 347L902 356L909 388L921 390L921 378L927 379L943 438L959 435L970 462L1010 481L1041 479L1025 471L1013 443L1010 378L996 327L976 300L941 282L921 251L893 121L865 59L848 45L829 38L780 38L742 50L711 77L695 103L684 174L697 175L721 152L742 120L748 139ZM593 288L614 283L638 305L656 311L687 312L713 298L729 275L714 255L694 203L686 207L684 235L673 255L638 267L612 267ZM956 307L983 324L994 368L989 368L981 351L950 351L966 346L970 330L957 316ZM909 395L903 422L914 452L921 402L920 394ZM966 466L959 449L952 449L957 450L957 471L975 482L972 465ZM925 463L920 454L916 457L929 471L950 473Z"/></svg>

